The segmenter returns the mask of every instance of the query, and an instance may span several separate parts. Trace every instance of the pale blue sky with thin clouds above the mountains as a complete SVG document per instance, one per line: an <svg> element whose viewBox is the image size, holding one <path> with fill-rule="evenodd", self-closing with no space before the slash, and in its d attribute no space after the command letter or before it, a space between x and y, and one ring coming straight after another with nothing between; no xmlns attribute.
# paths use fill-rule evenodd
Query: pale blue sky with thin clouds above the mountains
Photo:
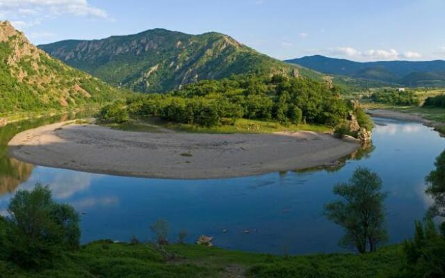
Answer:
<svg viewBox="0 0 445 278"><path fill-rule="evenodd" d="M280 60L445 59L445 0L0 0L34 44L216 31Z"/></svg>

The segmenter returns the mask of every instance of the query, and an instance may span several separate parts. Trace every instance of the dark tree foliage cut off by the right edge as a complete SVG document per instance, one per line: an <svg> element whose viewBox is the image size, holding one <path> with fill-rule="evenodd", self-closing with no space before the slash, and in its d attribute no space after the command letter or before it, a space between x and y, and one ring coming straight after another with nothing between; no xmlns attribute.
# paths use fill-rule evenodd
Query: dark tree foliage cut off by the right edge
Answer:
<svg viewBox="0 0 445 278"><path fill-rule="evenodd" d="M445 216L445 151L436 158L435 167L425 178L426 193L435 201L429 213L430 216Z"/></svg>

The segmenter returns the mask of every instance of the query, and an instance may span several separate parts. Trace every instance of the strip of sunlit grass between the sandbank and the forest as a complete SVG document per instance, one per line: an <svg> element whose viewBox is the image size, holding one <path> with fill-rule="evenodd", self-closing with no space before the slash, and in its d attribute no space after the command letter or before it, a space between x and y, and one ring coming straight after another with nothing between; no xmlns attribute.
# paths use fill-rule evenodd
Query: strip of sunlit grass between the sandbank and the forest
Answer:
<svg viewBox="0 0 445 278"><path fill-rule="evenodd" d="M219 126L197 126L193 124L178 124L167 122L156 117L139 119L136 122L125 122L123 124L106 124L114 129L125 131L147 131L159 132L162 129L170 129L178 132L188 133L273 133L279 131L315 131L332 132L330 126L316 124L287 124L282 125L278 122L267 122L261 120L238 119L234 124L222 124Z"/></svg>

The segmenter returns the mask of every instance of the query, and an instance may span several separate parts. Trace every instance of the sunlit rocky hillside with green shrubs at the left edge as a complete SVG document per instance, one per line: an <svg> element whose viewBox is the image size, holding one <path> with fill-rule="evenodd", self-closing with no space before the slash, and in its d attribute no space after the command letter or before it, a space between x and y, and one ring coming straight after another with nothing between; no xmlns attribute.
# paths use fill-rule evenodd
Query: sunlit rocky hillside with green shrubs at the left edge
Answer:
<svg viewBox="0 0 445 278"><path fill-rule="evenodd" d="M51 58L0 22L0 114L83 106L113 99L120 90Z"/></svg>

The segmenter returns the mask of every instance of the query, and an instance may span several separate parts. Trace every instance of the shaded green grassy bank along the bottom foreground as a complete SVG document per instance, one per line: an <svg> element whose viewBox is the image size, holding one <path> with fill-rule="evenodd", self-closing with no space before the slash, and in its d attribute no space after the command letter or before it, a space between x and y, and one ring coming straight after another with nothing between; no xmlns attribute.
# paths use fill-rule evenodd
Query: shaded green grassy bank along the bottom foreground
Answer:
<svg viewBox="0 0 445 278"><path fill-rule="evenodd" d="M375 253L273 256L202 245L112 243L101 240L60 256L54 268L22 270L0 261L1 277L391 277L402 246Z"/></svg>

